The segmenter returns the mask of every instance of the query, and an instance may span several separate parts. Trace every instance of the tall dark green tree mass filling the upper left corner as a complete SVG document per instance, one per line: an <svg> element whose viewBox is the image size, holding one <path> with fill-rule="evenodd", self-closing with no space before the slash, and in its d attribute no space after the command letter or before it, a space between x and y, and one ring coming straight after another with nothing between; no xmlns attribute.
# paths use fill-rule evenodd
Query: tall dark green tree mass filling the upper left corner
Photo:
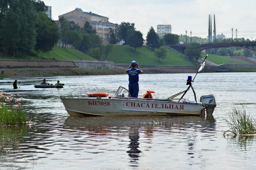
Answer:
<svg viewBox="0 0 256 170"><path fill-rule="evenodd" d="M0 1L0 51L8 56L26 56L51 50L60 35L45 12L43 1Z"/></svg>

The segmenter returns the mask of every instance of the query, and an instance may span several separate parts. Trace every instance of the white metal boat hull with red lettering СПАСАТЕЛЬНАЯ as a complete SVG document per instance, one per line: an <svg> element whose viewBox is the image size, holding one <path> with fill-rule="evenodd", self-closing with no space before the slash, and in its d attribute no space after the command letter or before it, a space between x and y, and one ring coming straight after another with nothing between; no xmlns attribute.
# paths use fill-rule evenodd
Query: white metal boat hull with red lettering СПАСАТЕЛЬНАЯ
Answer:
<svg viewBox="0 0 256 170"><path fill-rule="evenodd" d="M84 116L166 116L200 115L201 103L119 97L61 97L70 115Z"/></svg>

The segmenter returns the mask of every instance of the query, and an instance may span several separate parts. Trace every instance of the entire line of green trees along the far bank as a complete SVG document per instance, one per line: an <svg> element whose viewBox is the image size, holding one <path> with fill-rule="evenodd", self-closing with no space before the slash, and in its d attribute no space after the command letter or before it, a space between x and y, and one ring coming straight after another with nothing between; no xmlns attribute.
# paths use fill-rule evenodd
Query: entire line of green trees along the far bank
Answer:
<svg viewBox="0 0 256 170"><path fill-rule="evenodd" d="M60 18L60 28L55 21L46 15L47 7L43 1L38 0L2 0L0 1L0 52L6 56L36 56L39 52L48 52L53 46L68 45L88 54L96 59L106 59L114 44L123 40L124 45L129 45L136 50L144 43L143 34L135 28L134 23L122 22L116 29L109 29L109 45L103 45L102 38L97 35L95 29L86 22L83 29L76 23ZM187 37L186 37L187 38ZM146 44L154 50L156 57L166 57L164 45L179 44L184 35L167 33L158 35L153 27L150 27L146 35ZM188 44L185 51L190 59L200 56L199 45L196 42L207 41L199 37L193 37L193 42ZM184 40L183 40L184 42ZM218 49L209 50L209 53L217 54L247 54L242 50ZM249 54L248 54L249 55Z"/></svg>

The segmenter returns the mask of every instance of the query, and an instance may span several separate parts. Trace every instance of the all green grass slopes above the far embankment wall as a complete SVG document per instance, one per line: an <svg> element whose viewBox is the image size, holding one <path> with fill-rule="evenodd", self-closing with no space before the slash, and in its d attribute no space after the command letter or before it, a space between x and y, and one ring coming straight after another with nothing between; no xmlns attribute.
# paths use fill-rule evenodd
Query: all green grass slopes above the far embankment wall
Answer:
<svg viewBox="0 0 256 170"><path fill-rule="evenodd" d="M173 65L173 66L191 66L195 63L189 62L177 52L171 49L167 49L167 57L158 59L155 56L154 50L148 46L142 46L141 48L134 48L128 45L114 45L112 51L106 58L102 60L113 61L114 63L130 63L135 60L141 65ZM102 57L104 54L102 55ZM202 58L205 58L205 54L201 54ZM68 60L92 60L96 61L93 57L86 55L74 48L62 48L54 47L50 52L39 53L38 56L26 56L26 57L10 57L4 56L0 53L0 58L5 59L68 59ZM252 63L244 61L242 59L236 59L229 56L217 56L209 54L207 60L218 65L224 63L239 64L239 65L251 65Z"/></svg>

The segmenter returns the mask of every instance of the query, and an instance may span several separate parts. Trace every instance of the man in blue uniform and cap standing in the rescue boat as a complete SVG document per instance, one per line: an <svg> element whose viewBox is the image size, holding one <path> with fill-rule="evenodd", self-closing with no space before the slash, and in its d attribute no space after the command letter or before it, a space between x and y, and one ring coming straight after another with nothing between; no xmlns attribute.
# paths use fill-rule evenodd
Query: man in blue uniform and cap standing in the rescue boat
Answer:
<svg viewBox="0 0 256 170"><path fill-rule="evenodd" d="M138 97L139 94L139 74L142 74L142 69L136 61L132 61L131 65L126 69L129 75L129 93L131 97Z"/></svg>

